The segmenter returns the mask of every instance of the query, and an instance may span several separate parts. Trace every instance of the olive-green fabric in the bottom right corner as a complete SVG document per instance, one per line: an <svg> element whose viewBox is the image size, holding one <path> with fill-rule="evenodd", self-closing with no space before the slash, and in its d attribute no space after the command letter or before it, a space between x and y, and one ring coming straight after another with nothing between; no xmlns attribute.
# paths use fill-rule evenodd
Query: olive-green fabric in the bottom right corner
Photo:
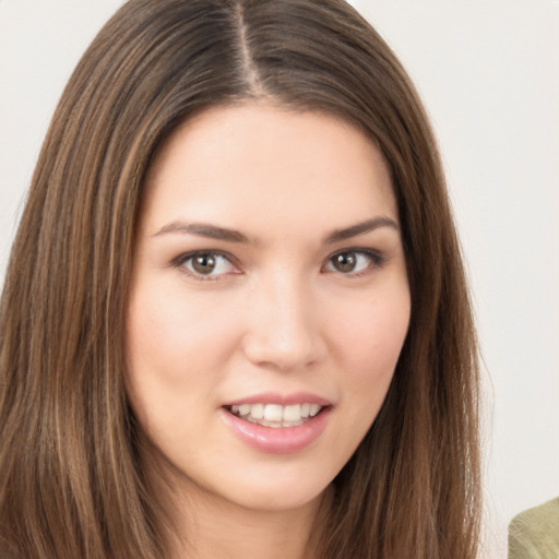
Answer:
<svg viewBox="0 0 559 559"><path fill-rule="evenodd" d="M559 498L512 519L509 559L559 559Z"/></svg>

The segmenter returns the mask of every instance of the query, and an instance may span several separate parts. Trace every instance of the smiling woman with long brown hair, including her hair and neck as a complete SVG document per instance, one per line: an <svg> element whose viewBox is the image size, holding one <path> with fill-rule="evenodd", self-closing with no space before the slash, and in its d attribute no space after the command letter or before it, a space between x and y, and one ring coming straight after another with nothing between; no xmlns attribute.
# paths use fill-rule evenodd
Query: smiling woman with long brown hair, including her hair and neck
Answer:
<svg viewBox="0 0 559 559"><path fill-rule="evenodd" d="M55 114L0 324L9 556L476 555L441 165L340 0L123 5Z"/></svg>

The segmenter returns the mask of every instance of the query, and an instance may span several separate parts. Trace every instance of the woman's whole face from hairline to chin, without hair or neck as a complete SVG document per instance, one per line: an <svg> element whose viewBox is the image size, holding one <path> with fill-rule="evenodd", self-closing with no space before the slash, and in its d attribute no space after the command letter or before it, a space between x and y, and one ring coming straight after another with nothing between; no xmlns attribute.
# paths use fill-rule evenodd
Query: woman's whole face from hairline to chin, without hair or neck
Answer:
<svg viewBox="0 0 559 559"><path fill-rule="evenodd" d="M379 412L409 290L386 165L330 116L213 108L146 180L129 397L181 489L316 502Z"/></svg>

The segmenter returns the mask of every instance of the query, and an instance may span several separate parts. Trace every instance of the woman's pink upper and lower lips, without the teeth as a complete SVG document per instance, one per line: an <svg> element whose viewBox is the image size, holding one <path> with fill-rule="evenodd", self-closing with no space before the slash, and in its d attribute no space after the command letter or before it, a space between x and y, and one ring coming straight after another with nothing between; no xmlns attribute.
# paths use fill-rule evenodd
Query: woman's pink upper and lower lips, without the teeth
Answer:
<svg viewBox="0 0 559 559"><path fill-rule="evenodd" d="M319 404L323 406L323 409L314 417L310 417L305 424L296 427L264 427L241 419L226 409L231 405L240 404L280 404L286 406L302 403ZM260 452L271 454L295 453L312 444L325 429L331 412L331 402L308 393L259 394L239 401L231 401L222 408L226 424L242 442Z"/></svg>

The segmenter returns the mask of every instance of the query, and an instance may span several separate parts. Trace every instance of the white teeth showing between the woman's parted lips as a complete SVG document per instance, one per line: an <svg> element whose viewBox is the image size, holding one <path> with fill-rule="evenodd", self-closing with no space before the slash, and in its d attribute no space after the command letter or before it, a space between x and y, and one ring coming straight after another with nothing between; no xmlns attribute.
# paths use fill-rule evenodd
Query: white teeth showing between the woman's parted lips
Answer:
<svg viewBox="0 0 559 559"><path fill-rule="evenodd" d="M225 406L225 409L245 421L278 429L304 425L319 415L325 407L329 406L321 406L316 403L292 404L286 406L255 403Z"/></svg>

